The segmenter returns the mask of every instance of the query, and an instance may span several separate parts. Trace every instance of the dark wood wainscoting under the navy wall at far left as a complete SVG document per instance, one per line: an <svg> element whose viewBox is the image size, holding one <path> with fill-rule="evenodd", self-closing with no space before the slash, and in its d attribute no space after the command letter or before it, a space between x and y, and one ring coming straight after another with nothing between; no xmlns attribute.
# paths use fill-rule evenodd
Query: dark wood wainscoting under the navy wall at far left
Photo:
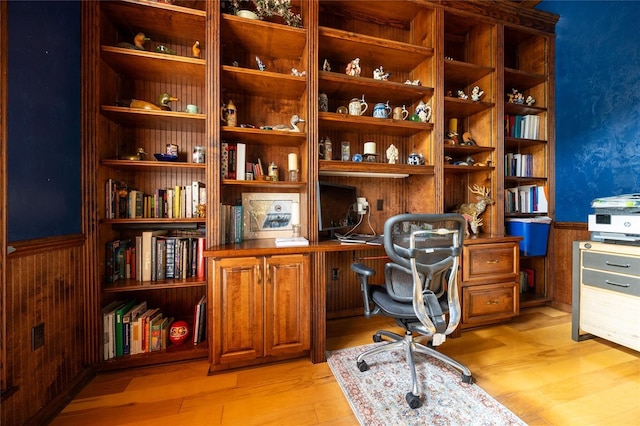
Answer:
<svg viewBox="0 0 640 426"><path fill-rule="evenodd" d="M90 379L87 368L84 237L73 235L12 244L0 304L2 425L45 424ZM93 310L92 312L95 312ZM32 348L44 324L44 344Z"/></svg>

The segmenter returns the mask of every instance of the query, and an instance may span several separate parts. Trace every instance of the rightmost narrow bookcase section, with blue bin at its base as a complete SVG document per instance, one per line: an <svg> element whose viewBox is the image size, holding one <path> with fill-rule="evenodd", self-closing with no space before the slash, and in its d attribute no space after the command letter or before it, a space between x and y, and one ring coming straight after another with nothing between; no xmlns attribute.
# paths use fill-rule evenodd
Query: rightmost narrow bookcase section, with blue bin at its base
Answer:
<svg viewBox="0 0 640 426"><path fill-rule="evenodd" d="M511 25L505 25L503 31L504 217L553 218L554 38ZM514 99L514 91L522 96ZM523 123L521 128L518 120ZM551 291L547 284L547 256L522 256L521 263L534 275L534 285L520 295L522 306L548 302Z"/></svg>

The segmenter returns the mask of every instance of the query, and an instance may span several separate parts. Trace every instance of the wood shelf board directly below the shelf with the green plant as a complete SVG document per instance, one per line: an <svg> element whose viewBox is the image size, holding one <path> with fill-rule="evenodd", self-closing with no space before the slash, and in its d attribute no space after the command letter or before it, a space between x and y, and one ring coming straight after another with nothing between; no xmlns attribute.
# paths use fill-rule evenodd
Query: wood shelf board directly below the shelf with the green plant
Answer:
<svg viewBox="0 0 640 426"><path fill-rule="evenodd" d="M307 89L306 77L230 65L222 66L220 80L227 93L247 93L266 98L300 100Z"/></svg>

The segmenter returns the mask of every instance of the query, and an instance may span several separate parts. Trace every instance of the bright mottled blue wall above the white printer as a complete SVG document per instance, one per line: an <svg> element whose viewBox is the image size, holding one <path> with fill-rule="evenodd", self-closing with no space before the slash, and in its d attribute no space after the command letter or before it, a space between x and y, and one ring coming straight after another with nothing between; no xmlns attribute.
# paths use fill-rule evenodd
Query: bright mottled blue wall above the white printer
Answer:
<svg viewBox="0 0 640 426"><path fill-rule="evenodd" d="M556 221L640 192L640 2L543 1L556 26Z"/></svg>

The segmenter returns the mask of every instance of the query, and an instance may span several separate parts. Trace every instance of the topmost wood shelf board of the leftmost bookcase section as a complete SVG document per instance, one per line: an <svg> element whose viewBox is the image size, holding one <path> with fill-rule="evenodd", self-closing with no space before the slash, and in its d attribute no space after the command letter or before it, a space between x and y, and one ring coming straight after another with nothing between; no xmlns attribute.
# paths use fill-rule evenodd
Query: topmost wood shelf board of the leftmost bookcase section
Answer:
<svg viewBox="0 0 640 426"><path fill-rule="evenodd" d="M117 22L123 32L131 32L132 38L133 31L142 31L158 43L191 46L196 40L205 40L204 10L145 0L103 1L100 6L109 20Z"/></svg>

